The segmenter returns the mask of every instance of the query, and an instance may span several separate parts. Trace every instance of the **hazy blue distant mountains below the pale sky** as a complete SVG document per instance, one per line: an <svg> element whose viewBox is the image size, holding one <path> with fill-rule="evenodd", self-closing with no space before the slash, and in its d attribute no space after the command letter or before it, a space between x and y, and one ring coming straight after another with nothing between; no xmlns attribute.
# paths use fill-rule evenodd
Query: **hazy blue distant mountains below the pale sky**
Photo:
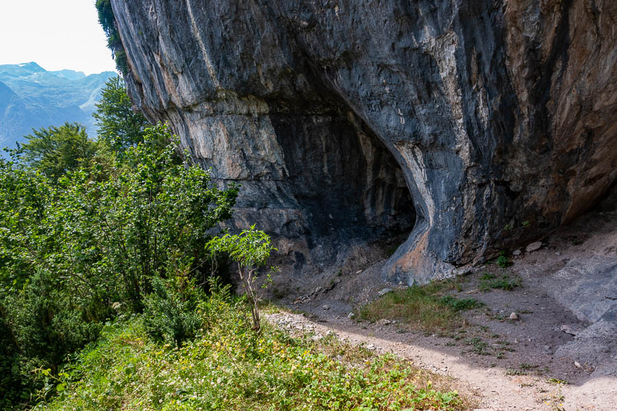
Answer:
<svg viewBox="0 0 617 411"><path fill-rule="evenodd" d="M32 129L77 121L95 134L101 88L116 73L46 71L35 62L0 65L0 148L23 142Z"/></svg>

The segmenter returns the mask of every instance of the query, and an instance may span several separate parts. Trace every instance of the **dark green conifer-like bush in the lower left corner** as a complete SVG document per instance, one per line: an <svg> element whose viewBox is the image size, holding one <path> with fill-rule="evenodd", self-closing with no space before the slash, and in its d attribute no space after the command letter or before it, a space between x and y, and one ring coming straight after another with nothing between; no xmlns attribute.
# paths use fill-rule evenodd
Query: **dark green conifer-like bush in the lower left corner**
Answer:
<svg viewBox="0 0 617 411"><path fill-rule="evenodd" d="M5 342L0 346L0 390L12 401L29 398L28 390L40 388L36 369L58 373L66 356L94 341L102 324L86 315L90 302L60 286L58 277L41 270L19 292L5 292L0 300L0 323Z"/></svg>

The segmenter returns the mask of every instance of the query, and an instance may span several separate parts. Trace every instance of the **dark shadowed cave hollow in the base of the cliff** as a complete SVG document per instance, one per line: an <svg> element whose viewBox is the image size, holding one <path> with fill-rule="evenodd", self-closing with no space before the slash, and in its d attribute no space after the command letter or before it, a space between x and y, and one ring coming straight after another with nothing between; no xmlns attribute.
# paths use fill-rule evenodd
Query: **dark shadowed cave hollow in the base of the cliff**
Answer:
<svg viewBox="0 0 617 411"><path fill-rule="evenodd" d="M350 113L288 112L270 120L285 155L286 186L304 216L298 234L306 249L295 251L295 271L306 271L307 262L345 269L349 254L367 246L381 249L380 259L394 253L416 213L398 162L374 133Z"/></svg>

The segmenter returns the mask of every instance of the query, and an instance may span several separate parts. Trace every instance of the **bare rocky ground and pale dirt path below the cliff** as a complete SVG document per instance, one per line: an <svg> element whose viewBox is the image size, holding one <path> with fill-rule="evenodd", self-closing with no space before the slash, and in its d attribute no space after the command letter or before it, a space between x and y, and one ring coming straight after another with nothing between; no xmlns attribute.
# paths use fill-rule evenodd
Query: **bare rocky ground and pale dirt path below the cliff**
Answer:
<svg viewBox="0 0 617 411"><path fill-rule="evenodd" d="M282 299L295 314L269 320L295 332L335 332L450 375L481 410L617 410L617 213L592 212L526 248L508 268L484 264L459 277L450 292L485 306L465 312L466 325L454 331L350 316L385 288L404 287L371 280L375 265L304 284ZM483 290L491 275L520 285Z"/></svg>

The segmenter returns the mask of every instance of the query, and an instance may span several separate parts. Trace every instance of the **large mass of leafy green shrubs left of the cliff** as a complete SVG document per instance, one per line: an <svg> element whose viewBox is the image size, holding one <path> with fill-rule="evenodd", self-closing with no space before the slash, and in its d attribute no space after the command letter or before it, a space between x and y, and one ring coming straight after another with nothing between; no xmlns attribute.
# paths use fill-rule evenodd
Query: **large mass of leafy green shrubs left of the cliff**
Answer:
<svg viewBox="0 0 617 411"><path fill-rule="evenodd" d="M27 397L15 387L43 384L33 369L56 373L97 338L114 303L139 312L156 279L209 269L208 230L231 216L237 188L211 186L208 171L179 160L176 142L161 147L170 140L164 126L151 127L122 162L60 174L0 160L0 321L9 336L0 357L10 358L0 372L11 376L0 390L8 397ZM159 314L184 307L150 303ZM192 333L194 319L182 315L160 323L165 338Z"/></svg>

